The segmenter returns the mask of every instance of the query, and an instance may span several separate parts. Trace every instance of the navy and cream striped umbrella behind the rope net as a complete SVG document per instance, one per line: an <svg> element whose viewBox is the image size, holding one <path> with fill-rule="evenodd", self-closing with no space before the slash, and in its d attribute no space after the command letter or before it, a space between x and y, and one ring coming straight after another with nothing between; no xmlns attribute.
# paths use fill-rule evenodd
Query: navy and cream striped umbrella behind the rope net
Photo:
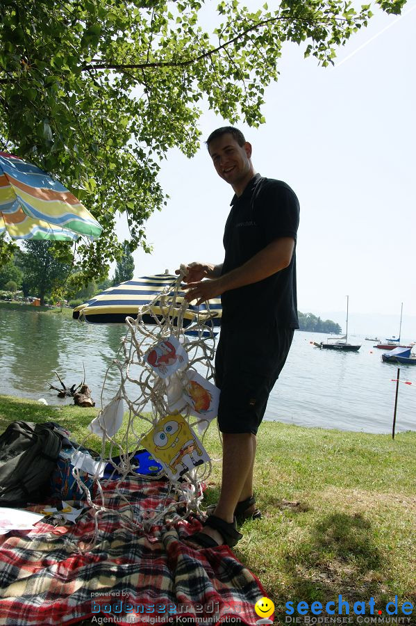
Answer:
<svg viewBox="0 0 416 626"><path fill-rule="evenodd" d="M173 295L177 279L177 276L165 273L143 276L138 278L138 280L127 280L117 284L116 287L106 289L98 296L76 307L72 317L74 319L85 319L96 324L124 323L126 316L136 319L139 307L149 305L155 296L162 294L165 290L165 293ZM173 318L177 316L184 296L185 291L178 292L176 298L177 308L174 310ZM208 305L210 314L214 318L212 326L219 326L222 314L220 298L209 300ZM163 317L163 310L160 308L159 300L156 300L156 304L153 305L152 312L159 319ZM189 304L183 316L183 326L188 326L192 323L196 312L199 312L200 315L206 314L208 312L206 304L199 305L199 307ZM155 323L151 314L144 314L142 319L147 324Z"/></svg>

